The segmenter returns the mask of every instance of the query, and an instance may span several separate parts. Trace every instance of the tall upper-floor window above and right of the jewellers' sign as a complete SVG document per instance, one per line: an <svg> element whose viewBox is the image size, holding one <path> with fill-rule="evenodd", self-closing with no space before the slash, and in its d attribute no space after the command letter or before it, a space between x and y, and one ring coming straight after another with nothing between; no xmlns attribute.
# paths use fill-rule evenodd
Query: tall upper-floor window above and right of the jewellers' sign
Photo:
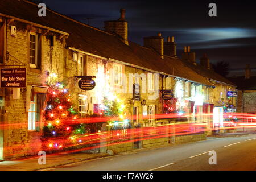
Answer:
<svg viewBox="0 0 256 182"><path fill-rule="evenodd" d="M38 35L30 32L30 64L38 64Z"/></svg>

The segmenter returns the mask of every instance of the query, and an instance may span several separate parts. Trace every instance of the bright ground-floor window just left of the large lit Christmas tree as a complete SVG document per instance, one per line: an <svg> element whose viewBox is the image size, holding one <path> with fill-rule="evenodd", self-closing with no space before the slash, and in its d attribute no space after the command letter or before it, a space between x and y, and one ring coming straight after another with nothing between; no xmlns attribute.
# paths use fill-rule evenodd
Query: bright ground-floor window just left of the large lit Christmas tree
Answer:
<svg viewBox="0 0 256 182"><path fill-rule="evenodd" d="M30 109L28 110L28 131L36 130L36 94L34 96L34 101L30 101Z"/></svg>

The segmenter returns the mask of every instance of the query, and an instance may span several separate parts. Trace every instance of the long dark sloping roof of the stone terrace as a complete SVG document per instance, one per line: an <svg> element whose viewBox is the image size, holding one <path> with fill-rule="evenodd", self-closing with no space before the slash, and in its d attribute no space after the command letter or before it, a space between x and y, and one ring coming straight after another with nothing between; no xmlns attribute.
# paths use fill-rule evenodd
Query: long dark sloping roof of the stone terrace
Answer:
<svg viewBox="0 0 256 182"><path fill-rule="evenodd" d="M128 46L117 35L88 26L55 11L47 9L46 17L39 17L38 10L38 5L26 0L0 0L0 15L14 16L67 32L70 34L66 40L68 47L200 82L204 85L211 85L208 78L232 84L217 73L195 67L180 59L169 56L164 56L164 59L161 59L154 49L140 46L134 42L129 42Z"/></svg>

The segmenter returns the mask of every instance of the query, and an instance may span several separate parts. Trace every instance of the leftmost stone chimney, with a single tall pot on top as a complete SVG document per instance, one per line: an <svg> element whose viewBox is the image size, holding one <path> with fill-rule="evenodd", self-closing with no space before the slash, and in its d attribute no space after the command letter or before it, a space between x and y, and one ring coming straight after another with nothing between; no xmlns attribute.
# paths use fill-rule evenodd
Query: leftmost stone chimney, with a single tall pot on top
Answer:
<svg viewBox="0 0 256 182"><path fill-rule="evenodd" d="M125 9L120 10L120 18L113 21L105 21L105 31L117 34L125 44L128 43L128 22L125 19Z"/></svg>

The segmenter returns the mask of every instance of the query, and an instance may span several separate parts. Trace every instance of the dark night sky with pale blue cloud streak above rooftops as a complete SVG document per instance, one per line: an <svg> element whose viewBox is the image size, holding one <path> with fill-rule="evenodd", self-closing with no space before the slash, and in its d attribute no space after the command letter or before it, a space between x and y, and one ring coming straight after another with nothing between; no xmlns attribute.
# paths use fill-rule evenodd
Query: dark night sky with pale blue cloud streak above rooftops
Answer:
<svg viewBox="0 0 256 182"><path fill-rule="evenodd" d="M143 44L144 36L158 32L174 36L177 55L191 46L197 60L207 53L210 62L228 61L229 76L244 73L250 64L256 75L256 1L121 1L42 0L46 6L91 26L104 29L105 20L117 20L126 9L129 40ZM208 16L208 5L217 5L217 17Z"/></svg>

